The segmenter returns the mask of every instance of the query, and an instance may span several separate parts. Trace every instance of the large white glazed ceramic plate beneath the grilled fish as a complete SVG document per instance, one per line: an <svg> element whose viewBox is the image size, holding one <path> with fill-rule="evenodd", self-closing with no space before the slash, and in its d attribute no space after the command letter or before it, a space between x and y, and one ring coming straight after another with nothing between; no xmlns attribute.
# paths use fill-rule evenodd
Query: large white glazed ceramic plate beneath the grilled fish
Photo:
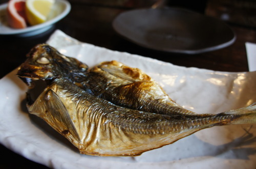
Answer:
<svg viewBox="0 0 256 169"><path fill-rule="evenodd" d="M48 43L87 63L117 60L142 69L167 94L198 113L236 109L256 102L256 72L228 73L185 68L112 51L56 31ZM24 56L25 57L25 56ZM98 157L78 150L25 107L26 85L17 70L0 80L0 142L24 157L52 168L255 168L256 125L212 127L138 157ZM244 129L249 130L248 134Z"/></svg>

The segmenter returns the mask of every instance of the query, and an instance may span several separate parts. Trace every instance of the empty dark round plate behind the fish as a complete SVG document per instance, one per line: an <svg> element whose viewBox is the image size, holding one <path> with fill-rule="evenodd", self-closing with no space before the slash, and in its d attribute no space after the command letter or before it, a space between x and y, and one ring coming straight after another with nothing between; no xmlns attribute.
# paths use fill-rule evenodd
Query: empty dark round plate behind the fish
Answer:
<svg viewBox="0 0 256 169"><path fill-rule="evenodd" d="M177 8L123 12L113 21L114 30L146 48L196 54L232 44L236 36L222 21Z"/></svg>

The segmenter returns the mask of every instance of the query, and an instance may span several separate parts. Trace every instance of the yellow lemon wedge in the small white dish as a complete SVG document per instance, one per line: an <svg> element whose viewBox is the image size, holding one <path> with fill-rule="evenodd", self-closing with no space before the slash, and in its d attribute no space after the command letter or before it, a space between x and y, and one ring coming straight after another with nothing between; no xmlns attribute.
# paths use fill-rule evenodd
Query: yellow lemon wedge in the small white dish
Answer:
<svg viewBox="0 0 256 169"><path fill-rule="evenodd" d="M43 23L47 20L54 0L27 0L26 15L31 25Z"/></svg>

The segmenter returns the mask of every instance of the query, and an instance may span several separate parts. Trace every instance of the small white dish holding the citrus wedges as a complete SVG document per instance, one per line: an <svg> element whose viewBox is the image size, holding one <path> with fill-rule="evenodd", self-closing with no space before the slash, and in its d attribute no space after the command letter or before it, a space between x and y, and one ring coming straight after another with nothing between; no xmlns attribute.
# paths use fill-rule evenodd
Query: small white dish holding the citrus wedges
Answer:
<svg viewBox="0 0 256 169"><path fill-rule="evenodd" d="M71 5L68 1L56 0L48 21L38 25L28 26L25 29L13 29L8 26L6 9L7 4L0 6L0 35L28 37L38 35L49 30L54 23L65 17L70 12Z"/></svg>

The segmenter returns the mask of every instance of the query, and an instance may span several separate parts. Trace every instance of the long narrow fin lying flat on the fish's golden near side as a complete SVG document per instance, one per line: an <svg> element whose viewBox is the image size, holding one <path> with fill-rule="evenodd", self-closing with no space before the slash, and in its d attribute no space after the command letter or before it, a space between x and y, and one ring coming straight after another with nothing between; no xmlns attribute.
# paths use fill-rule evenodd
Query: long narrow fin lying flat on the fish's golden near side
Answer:
<svg viewBox="0 0 256 169"><path fill-rule="evenodd" d="M46 106L49 113L59 121L61 124L66 126L67 130L62 131L62 134L70 132L74 138L80 142L79 134L70 118L69 112L66 106L62 103L59 96L52 90L48 90L45 95Z"/></svg>

